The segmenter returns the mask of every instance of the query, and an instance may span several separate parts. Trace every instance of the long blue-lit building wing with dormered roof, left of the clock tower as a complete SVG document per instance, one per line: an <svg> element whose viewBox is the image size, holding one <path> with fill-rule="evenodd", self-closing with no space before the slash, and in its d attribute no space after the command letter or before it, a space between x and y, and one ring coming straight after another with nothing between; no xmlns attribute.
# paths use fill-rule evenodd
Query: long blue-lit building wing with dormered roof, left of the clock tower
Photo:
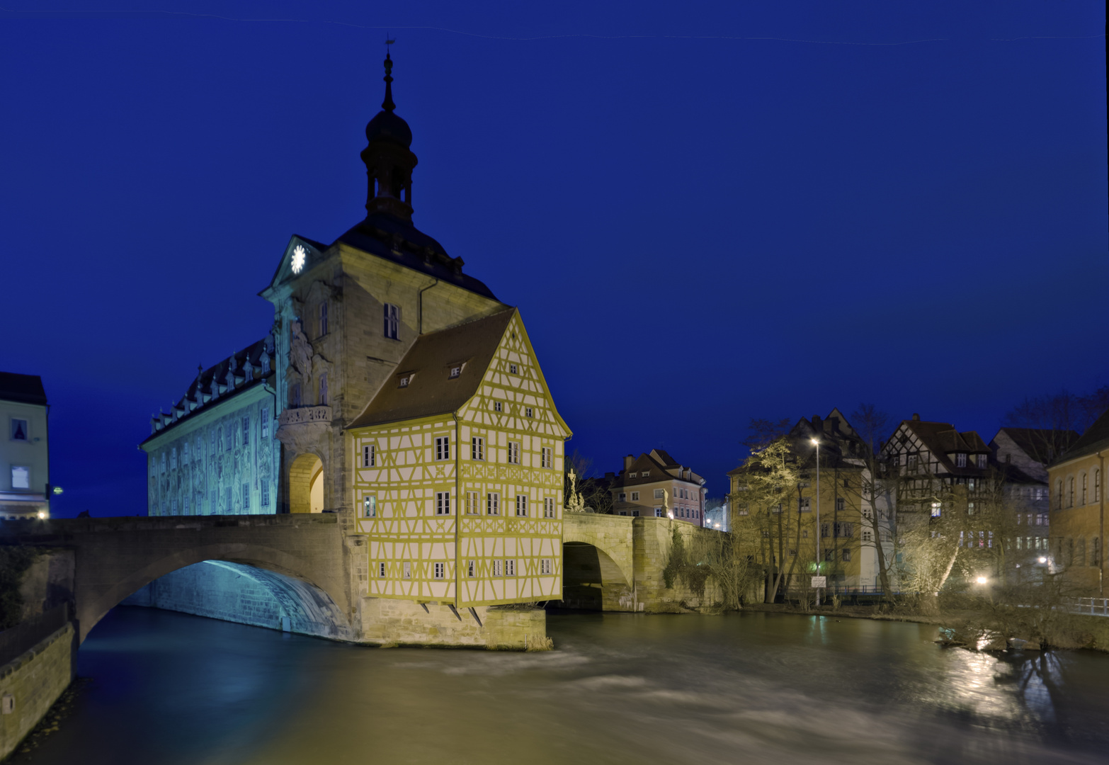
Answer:
<svg viewBox="0 0 1109 765"><path fill-rule="evenodd" d="M281 445L273 337L215 366L197 369L169 412L151 419L146 452L147 514L248 516L277 512ZM323 482L312 481L314 510Z"/></svg>

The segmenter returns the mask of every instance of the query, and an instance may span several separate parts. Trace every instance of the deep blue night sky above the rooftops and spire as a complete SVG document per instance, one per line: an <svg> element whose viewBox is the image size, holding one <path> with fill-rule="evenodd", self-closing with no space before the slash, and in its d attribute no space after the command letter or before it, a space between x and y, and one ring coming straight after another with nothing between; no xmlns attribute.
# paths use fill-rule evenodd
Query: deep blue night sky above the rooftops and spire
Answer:
<svg viewBox="0 0 1109 765"><path fill-rule="evenodd" d="M55 516L145 512L151 412L365 214L387 31L414 222L601 470L662 447L716 494L751 417L988 439L1109 384L1102 3L474 4L0 11L0 369L43 378Z"/></svg>

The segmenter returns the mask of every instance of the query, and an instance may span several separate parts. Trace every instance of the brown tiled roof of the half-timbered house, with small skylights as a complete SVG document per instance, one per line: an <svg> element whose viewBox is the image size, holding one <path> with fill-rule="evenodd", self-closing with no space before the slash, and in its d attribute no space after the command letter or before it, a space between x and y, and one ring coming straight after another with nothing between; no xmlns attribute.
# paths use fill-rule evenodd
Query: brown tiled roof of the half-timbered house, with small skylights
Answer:
<svg viewBox="0 0 1109 765"><path fill-rule="evenodd" d="M516 308L420 335L377 391L366 409L347 427L362 428L415 417L446 415L458 410L478 390ZM465 361L451 379L450 365ZM400 387L400 377L411 374Z"/></svg>

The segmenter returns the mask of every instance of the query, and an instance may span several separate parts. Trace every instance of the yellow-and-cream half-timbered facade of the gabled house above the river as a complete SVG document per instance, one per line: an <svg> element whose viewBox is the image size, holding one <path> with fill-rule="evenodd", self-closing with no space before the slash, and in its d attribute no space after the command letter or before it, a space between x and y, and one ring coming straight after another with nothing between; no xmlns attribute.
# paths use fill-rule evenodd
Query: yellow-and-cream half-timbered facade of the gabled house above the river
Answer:
<svg viewBox="0 0 1109 765"><path fill-rule="evenodd" d="M357 532L367 538L367 595L456 608L561 599L562 460L570 431L518 315L477 391L456 411L347 435ZM444 437L448 455L437 453L436 439ZM482 439L480 450L474 439ZM367 467L370 446L374 463ZM437 513L445 491L449 516Z"/></svg>

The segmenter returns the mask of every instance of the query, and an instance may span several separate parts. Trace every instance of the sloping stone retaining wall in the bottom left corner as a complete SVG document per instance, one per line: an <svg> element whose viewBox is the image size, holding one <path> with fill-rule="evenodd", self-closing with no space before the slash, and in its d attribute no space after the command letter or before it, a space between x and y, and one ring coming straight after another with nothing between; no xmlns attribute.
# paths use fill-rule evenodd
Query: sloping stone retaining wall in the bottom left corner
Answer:
<svg viewBox="0 0 1109 765"><path fill-rule="evenodd" d="M73 624L0 667L0 759L11 754L77 673Z"/></svg>

